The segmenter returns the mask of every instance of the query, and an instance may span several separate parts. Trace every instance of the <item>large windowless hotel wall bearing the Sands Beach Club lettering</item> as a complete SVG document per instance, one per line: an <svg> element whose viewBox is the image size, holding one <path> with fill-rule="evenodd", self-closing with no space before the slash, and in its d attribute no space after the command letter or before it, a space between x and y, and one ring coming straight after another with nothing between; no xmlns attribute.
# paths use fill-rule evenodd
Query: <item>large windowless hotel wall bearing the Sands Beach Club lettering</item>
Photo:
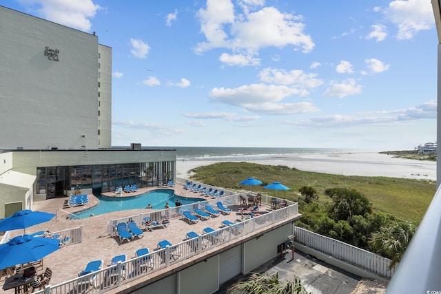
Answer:
<svg viewBox="0 0 441 294"><path fill-rule="evenodd" d="M0 6L0 148L98 147L98 37Z"/></svg>

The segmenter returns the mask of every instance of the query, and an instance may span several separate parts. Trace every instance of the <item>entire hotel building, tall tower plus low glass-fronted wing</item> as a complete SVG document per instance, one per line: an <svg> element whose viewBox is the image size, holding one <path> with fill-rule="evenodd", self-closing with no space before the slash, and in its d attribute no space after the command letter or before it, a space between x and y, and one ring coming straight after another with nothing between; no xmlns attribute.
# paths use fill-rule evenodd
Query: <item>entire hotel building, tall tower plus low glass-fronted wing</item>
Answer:
<svg viewBox="0 0 441 294"><path fill-rule="evenodd" d="M32 202L172 180L176 150L112 149L112 48L0 6L0 219Z"/></svg>

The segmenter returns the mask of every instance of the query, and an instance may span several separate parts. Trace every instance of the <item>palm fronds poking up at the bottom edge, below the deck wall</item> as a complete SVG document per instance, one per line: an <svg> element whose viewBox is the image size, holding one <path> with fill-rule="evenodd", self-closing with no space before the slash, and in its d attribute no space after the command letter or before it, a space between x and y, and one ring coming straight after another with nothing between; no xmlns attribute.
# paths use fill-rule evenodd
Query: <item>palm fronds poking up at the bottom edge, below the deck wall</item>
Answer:
<svg viewBox="0 0 441 294"><path fill-rule="evenodd" d="M298 277L281 283L278 273L261 275L252 273L248 280L229 286L228 294L311 294L306 291Z"/></svg>

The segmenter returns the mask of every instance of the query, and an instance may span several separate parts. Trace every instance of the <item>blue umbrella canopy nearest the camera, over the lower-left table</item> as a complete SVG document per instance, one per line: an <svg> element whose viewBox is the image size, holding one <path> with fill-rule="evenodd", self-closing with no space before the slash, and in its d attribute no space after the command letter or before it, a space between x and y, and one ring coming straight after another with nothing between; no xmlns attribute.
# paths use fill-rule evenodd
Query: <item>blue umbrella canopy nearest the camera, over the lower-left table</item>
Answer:
<svg viewBox="0 0 441 294"><path fill-rule="evenodd" d="M19 235L0 245L0 269L34 262L60 249L60 240Z"/></svg>

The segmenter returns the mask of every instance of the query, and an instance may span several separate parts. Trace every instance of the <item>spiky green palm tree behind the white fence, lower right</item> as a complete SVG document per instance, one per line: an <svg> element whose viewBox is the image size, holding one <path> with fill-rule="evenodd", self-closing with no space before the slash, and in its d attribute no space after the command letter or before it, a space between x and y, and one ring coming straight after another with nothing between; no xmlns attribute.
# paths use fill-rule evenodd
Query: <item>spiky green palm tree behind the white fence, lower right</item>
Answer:
<svg viewBox="0 0 441 294"><path fill-rule="evenodd" d="M369 249L390 258L392 268L400 262L415 232L416 226L410 222L396 222L389 227L381 227L380 231L372 233L368 241Z"/></svg>

